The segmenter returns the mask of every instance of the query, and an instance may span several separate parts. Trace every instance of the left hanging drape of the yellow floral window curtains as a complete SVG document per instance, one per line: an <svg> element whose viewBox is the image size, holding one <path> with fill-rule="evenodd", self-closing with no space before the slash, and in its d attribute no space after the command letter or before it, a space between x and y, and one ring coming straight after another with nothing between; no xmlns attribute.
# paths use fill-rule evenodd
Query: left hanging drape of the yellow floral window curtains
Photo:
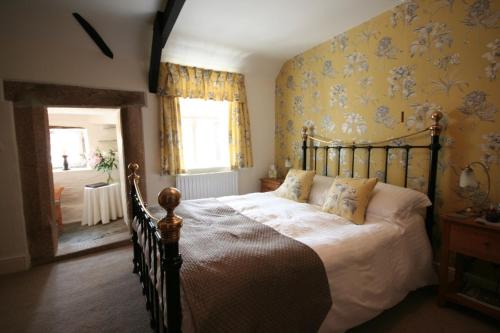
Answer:
<svg viewBox="0 0 500 333"><path fill-rule="evenodd" d="M161 169L169 175L184 173L179 98L160 98Z"/></svg>

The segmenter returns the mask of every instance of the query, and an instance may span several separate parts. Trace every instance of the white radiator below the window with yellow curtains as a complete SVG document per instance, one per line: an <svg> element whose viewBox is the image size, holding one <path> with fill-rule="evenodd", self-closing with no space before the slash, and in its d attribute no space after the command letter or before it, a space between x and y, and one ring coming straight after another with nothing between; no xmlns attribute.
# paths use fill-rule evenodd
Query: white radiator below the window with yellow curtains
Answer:
<svg viewBox="0 0 500 333"><path fill-rule="evenodd" d="M183 200L238 194L237 171L178 175L175 183L175 186L181 191Z"/></svg>

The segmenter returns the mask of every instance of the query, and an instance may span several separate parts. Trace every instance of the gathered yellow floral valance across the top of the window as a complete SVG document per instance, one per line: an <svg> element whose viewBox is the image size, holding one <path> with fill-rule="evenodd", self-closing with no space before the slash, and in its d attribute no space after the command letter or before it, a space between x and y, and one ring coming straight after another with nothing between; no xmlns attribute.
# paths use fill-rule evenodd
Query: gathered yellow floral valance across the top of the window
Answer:
<svg viewBox="0 0 500 333"><path fill-rule="evenodd" d="M158 83L160 96L246 103L242 74L161 63Z"/></svg>

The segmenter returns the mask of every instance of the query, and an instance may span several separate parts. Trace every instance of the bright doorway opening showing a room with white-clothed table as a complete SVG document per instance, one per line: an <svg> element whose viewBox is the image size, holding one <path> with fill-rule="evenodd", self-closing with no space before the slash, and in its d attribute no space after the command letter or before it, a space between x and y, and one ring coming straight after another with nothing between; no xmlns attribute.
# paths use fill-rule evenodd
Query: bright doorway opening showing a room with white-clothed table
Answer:
<svg viewBox="0 0 500 333"><path fill-rule="evenodd" d="M57 256L126 242L120 109L48 107Z"/></svg>

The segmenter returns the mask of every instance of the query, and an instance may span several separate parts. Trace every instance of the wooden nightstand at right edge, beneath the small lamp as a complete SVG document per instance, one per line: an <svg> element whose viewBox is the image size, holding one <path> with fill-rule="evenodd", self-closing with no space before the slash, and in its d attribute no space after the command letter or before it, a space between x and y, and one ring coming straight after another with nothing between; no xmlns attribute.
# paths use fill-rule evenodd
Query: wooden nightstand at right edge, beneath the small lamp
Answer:
<svg viewBox="0 0 500 333"><path fill-rule="evenodd" d="M500 309L460 292L463 257L473 257L500 264L500 228L474 222L474 218L442 216L443 232L439 271L439 304L458 303L500 319ZM455 253L455 277L448 282L450 252Z"/></svg>

